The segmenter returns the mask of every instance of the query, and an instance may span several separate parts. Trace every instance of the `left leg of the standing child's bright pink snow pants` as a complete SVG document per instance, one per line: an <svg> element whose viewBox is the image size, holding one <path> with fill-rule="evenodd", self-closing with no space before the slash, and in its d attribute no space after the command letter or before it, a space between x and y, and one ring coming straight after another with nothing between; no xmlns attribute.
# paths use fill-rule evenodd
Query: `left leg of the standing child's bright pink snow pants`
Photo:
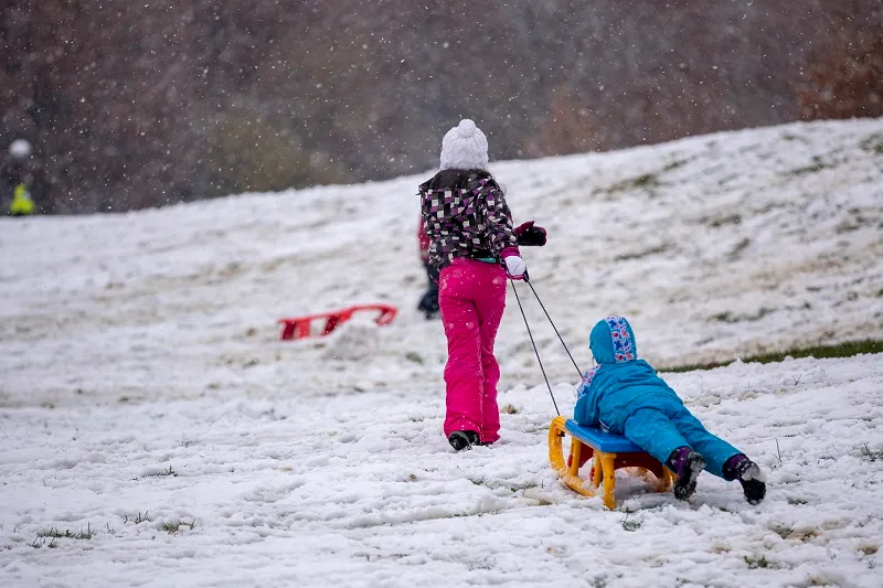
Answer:
<svg viewBox="0 0 883 588"><path fill-rule="evenodd" d="M442 271L439 307L448 340L445 365L445 436L458 430L481 431L481 362L478 310L469 296L474 276L464 264Z"/></svg>

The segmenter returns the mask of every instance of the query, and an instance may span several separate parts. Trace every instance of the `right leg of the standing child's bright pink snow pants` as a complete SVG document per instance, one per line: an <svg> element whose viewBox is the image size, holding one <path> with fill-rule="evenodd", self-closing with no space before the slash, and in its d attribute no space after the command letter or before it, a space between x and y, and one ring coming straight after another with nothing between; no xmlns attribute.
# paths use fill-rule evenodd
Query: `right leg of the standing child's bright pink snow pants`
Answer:
<svg viewBox="0 0 883 588"><path fill-rule="evenodd" d="M497 384L500 366L493 356L493 342L506 309L506 271L500 266L481 264L476 268L481 278L476 284L478 329L481 339L482 409L481 442L492 443L500 438L500 409L497 406Z"/></svg>

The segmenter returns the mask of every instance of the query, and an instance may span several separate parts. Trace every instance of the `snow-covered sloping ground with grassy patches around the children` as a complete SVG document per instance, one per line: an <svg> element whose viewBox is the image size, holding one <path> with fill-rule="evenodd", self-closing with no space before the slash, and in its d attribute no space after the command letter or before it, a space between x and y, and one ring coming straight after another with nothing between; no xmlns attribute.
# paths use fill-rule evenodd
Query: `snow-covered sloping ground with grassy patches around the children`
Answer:
<svg viewBox="0 0 883 588"><path fill-rule="evenodd" d="M492 171L550 231L524 256L584 368L614 312L660 367L883 336L881 119ZM881 585L881 355L667 375L767 500L623 477L608 512L547 466L510 295L503 439L453 453L444 336L413 309L421 179L0 221L0 586ZM570 414L576 371L520 292ZM277 340L355 302L401 314Z"/></svg>

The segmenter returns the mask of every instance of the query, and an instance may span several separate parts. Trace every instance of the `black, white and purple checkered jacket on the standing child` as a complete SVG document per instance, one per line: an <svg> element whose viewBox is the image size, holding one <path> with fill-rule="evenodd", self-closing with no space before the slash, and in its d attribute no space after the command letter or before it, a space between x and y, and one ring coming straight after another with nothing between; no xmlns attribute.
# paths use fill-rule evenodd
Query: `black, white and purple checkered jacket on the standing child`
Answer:
<svg viewBox="0 0 883 588"><path fill-rule="evenodd" d="M490 173L442 170L419 185L419 196L429 263L438 269L457 257L519 255L512 213Z"/></svg>

